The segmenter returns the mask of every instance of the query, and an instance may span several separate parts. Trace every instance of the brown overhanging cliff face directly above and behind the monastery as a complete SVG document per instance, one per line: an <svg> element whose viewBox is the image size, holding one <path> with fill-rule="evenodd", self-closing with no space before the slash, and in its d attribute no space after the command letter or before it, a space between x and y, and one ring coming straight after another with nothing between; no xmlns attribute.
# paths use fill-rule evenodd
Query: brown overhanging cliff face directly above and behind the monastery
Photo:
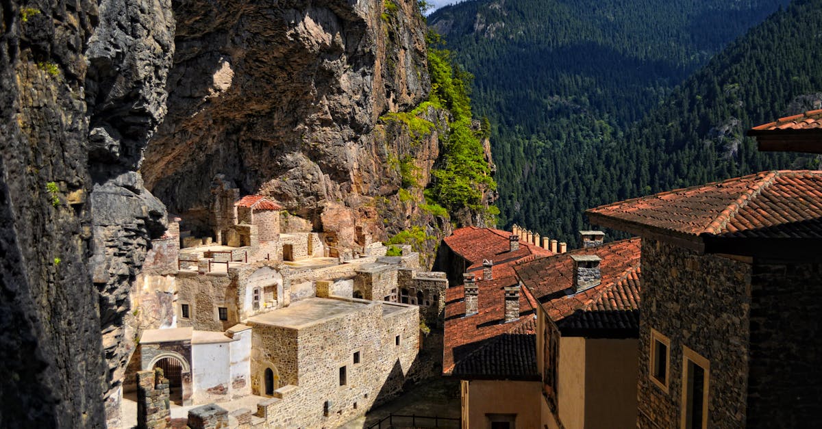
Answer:
<svg viewBox="0 0 822 429"><path fill-rule="evenodd" d="M274 196L343 247L385 240L386 225L436 225L416 203L447 127L410 136L380 119L430 90L416 2L192 1L174 15L169 114L141 171L187 228L211 233L217 174ZM406 157L418 171L410 202L398 197Z"/></svg>

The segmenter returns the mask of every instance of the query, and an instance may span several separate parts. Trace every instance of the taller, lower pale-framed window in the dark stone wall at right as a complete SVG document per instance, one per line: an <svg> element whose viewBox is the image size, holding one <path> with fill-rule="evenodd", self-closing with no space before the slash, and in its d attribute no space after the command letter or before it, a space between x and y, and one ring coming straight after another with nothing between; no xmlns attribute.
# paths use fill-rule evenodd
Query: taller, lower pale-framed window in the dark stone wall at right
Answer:
<svg viewBox="0 0 822 429"><path fill-rule="evenodd" d="M708 427L710 363L690 348L682 348L682 429Z"/></svg>

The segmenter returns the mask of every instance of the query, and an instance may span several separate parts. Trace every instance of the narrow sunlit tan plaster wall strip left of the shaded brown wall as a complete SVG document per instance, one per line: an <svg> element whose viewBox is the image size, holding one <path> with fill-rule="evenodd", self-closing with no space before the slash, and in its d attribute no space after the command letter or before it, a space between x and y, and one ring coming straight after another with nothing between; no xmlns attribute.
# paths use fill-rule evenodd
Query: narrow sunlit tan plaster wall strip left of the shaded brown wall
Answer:
<svg viewBox="0 0 822 429"><path fill-rule="evenodd" d="M560 420L566 429L582 429L585 424L585 339L560 340L558 381Z"/></svg>

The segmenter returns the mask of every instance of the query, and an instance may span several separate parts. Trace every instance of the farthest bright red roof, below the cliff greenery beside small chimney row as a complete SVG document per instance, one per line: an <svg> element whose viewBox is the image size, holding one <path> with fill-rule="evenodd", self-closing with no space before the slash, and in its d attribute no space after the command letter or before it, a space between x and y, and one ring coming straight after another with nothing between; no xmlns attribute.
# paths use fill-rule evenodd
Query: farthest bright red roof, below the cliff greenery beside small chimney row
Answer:
<svg viewBox="0 0 822 429"><path fill-rule="evenodd" d="M496 265L519 261L525 256L553 255L551 251L547 251L543 247L524 241L520 241L520 250L510 251L510 236L510 232L499 229L465 227L455 230L444 241L457 255L471 262L469 271L481 270L483 260L494 261L496 267ZM494 275L498 274L494 272Z"/></svg>

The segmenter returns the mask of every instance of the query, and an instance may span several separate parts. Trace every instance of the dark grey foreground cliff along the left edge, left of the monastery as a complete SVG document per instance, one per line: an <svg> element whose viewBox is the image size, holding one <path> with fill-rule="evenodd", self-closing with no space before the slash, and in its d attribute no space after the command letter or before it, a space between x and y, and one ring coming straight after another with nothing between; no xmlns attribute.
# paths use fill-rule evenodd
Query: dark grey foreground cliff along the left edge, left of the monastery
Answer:
<svg viewBox="0 0 822 429"><path fill-rule="evenodd" d="M104 427L128 291L164 230L136 170L165 112L171 5L0 5L2 397L20 399L0 426Z"/></svg>

